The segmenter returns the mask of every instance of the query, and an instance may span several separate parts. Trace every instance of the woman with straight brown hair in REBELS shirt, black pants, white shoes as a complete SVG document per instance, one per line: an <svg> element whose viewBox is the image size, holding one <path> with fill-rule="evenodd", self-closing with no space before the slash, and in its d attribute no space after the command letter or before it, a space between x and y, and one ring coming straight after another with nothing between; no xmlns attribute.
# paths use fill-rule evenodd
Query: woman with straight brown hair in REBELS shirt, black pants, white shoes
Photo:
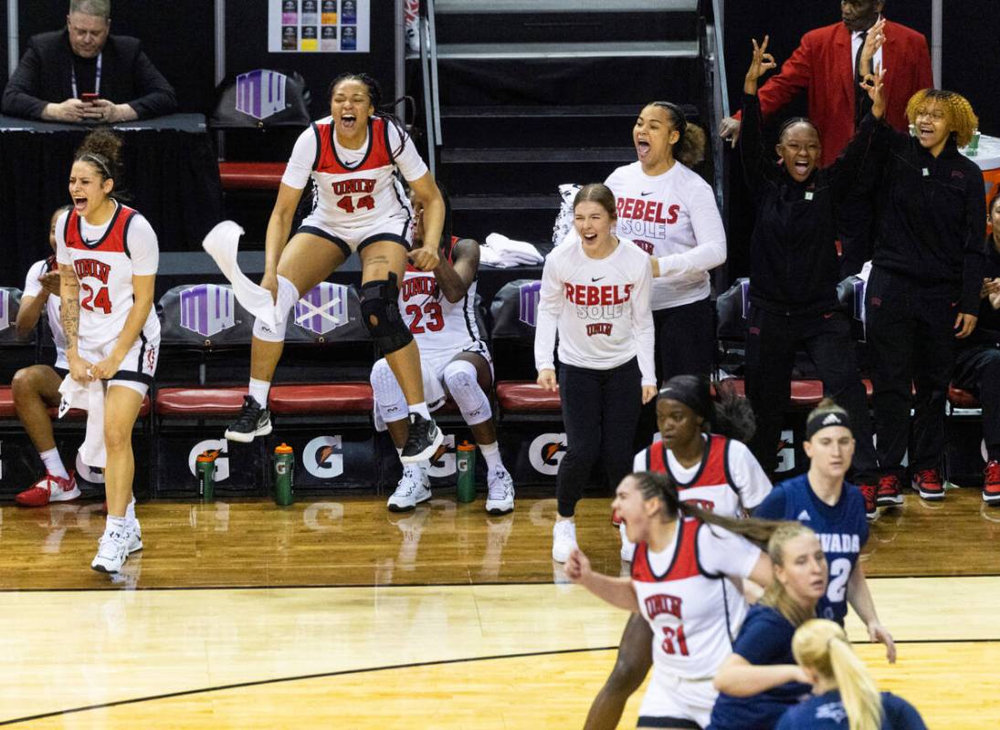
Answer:
<svg viewBox="0 0 1000 730"><path fill-rule="evenodd" d="M628 473L639 409L656 395L649 257L612 235L617 214L606 186L584 186L573 216L580 240L545 260L535 331L538 384L564 393L566 453L556 474L552 533L558 562L576 547L573 516L591 469L602 459L612 484Z"/></svg>

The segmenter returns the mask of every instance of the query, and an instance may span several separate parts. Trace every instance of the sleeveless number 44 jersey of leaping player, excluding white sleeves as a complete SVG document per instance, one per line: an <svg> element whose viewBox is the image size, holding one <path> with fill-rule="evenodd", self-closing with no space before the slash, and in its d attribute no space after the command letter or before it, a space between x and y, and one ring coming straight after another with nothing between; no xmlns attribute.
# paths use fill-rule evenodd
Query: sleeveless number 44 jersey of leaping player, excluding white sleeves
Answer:
<svg viewBox="0 0 1000 730"><path fill-rule="evenodd" d="M410 202L395 176L390 127L381 117L369 119L368 148L358 163L348 166L337 154L333 118L313 123L316 160L312 177L317 191L313 215L347 229L370 228L393 216L412 218ZM407 139L405 144L413 143Z"/></svg>

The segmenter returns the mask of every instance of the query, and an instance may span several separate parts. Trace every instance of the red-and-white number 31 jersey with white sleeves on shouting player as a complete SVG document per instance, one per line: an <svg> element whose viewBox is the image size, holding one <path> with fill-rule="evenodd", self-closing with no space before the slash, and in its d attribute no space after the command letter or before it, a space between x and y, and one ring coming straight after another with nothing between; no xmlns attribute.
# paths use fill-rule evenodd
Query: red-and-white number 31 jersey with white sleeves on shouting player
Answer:
<svg viewBox="0 0 1000 730"><path fill-rule="evenodd" d="M635 548L632 587L653 630L653 671L684 679L715 676L732 653L732 637L746 616L725 576L746 578L760 549L721 527L678 519L662 552Z"/></svg>

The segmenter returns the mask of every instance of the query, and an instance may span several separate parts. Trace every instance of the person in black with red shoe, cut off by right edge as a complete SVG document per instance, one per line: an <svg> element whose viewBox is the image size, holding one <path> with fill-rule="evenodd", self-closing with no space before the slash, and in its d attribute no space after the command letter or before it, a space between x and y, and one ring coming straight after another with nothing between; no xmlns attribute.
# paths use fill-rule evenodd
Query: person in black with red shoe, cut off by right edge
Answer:
<svg viewBox="0 0 1000 730"><path fill-rule="evenodd" d="M952 381L979 396L983 408L983 501L1000 504L1000 187L990 199L986 239L986 271L979 305L979 321L972 337L963 341Z"/></svg>

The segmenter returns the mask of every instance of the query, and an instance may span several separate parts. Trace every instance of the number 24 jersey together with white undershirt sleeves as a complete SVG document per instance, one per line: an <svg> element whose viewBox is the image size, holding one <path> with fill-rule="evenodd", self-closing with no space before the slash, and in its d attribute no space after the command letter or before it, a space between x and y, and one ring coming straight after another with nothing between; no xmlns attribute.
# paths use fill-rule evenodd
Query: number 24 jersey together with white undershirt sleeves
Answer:
<svg viewBox="0 0 1000 730"><path fill-rule="evenodd" d="M159 265L152 227L136 211L118 205L103 226L91 226L76 211L56 222L56 261L72 265L80 282L78 349L106 358L132 311L133 276L152 276ZM140 341L159 342L160 321L151 309ZM123 367L126 364L123 363Z"/></svg>

